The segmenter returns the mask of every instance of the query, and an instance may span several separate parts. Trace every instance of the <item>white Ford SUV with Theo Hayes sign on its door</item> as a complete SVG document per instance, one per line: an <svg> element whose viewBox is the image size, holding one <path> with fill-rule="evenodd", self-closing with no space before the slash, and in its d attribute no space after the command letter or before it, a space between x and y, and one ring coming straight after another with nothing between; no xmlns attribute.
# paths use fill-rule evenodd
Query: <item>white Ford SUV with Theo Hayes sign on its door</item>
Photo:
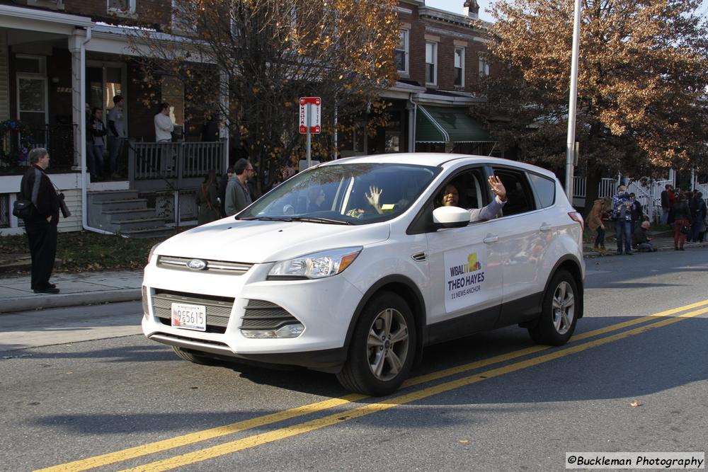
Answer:
<svg viewBox="0 0 708 472"><path fill-rule="evenodd" d="M491 175L506 188L498 212ZM450 185L457 206L442 205ZM492 200L490 219L471 222ZM513 324L566 343L583 316L582 234L558 180L536 166L341 159L153 248L142 328L191 362L294 364L386 395L426 345Z"/></svg>

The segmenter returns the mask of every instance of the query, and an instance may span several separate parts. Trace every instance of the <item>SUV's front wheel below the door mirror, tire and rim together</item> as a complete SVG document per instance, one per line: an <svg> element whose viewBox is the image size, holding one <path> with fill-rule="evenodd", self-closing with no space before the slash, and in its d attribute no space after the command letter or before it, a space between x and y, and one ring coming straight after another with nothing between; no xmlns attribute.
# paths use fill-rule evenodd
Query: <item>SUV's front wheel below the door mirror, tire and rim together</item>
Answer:
<svg viewBox="0 0 708 472"><path fill-rule="evenodd" d="M344 388L370 396L396 391L416 357L416 325L406 301L391 292L365 306L337 379Z"/></svg>

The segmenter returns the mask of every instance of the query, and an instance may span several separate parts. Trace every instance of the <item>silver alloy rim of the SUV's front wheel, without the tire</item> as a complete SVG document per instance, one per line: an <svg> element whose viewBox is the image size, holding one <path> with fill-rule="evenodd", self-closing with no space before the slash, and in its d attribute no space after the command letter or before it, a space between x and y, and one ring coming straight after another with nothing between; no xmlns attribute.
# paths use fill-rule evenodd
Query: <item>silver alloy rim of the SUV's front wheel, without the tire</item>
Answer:
<svg viewBox="0 0 708 472"><path fill-rule="evenodd" d="M409 352L408 324L403 314L392 308L377 314L366 342L371 373L380 381L398 376Z"/></svg>

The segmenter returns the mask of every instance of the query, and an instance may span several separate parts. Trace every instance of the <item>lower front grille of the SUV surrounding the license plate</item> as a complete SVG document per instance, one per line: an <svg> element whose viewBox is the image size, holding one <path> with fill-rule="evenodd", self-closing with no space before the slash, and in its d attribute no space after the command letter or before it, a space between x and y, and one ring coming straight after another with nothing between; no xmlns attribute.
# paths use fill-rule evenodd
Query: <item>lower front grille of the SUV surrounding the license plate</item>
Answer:
<svg viewBox="0 0 708 472"><path fill-rule="evenodd" d="M173 303L204 305L207 311L206 332L225 333L234 306L234 299L156 289L152 296L152 310L161 323L166 326L171 325Z"/></svg>

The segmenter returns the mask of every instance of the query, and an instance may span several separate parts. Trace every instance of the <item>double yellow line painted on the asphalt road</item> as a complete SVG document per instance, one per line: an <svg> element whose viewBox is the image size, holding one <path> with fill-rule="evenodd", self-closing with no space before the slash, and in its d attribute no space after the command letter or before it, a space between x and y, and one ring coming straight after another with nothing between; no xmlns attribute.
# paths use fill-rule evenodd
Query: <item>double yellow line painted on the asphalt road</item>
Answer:
<svg viewBox="0 0 708 472"><path fill-rule="evenodd" d="M207 447L206 449L200 449L198 451L193 451L187 454L182 454L179 456L174 456L169 459L164 459L160 461L155 461L150 464L145 464L143 466L137 466L135 468L127 469L128 471L167 471L172 468L179 466L185 466L188 464L194 464L195 462L205 461L207 459L212 459L218 456L223 456L225 454L232 454L236 451L241 451L244 449L249 449L251 447L260 446L262 444L268 444L269 442L278 441L280 439L285 439L287 437L296 436L298 434L303 434L305 432L310 432L314 430L319 430L323 427L336 425L341 422L348 420L353 420L355 418L361 418L365 415L370 415L372 413L377 413L379 411L387 410L398 405L404 405L406 403L411 403L413 401L418 401L423 398L428 398L438 393L444 393L455 388L462 386L467 386L475 384L476 382L491 379L496 376L501 376L503 374L509 374L510 372L516 372L521 369L526 369L538 364L543 364L544 362L549 362L554 359L559 359L560 357L565 357L576 352L582 352L588 350L591 347L597 347L599 345L604 345L607 343L612 343L616 340L623 338L628 338L629 336L636 335L639 333L644 333L646 330L653 328L661 328L663 326L668 326L672 323L677 323L683 319L693 318L699 316L702 313L708 313L708 300L699 301L694 304L689 304L685 306L680 306L675 309L670 309L666 311L661 311L659 313L654 313L649 316L643 316L641 318L635 318L629 321L624 321L622 323L616 323L611 326L606 326L605 328L600 328L597 330L589 331L588 333L582 333L576 335L572 338L572 343L570 347L565 347L563 349L554 350L544 355L537 357L532 357L530 359L525 359L520 362L515 362L513 364L508 364L503 367L497 367L495 369L490 369L485 372L480 372L478 374L472 374L470 376L465 376L459 379L451 380L438 384L435 386L430 386L427 388L422 388L417 391L412 391L401 396L396 396L394 398L389 398L385 401L379 403L367 403L366 405L359 406L357 408L352 408L344 413L335 413L333 415L326 416L324 418L317 418L314 420L309 420L306 422L299 423L297 425L292 425L289 427L282 427L277 430L270 432L265 432L263 434L256 434L250 437L245 437L242 439L236 439L232 442L226 442L224 444L219 444L214 447ZM695 309L699 307L704 307L702 309L697 309L695 311L690 311L688 313L683 313L676 315L682 311L687 311L690 309ZM639 328L634 328L632 330L624 330L615 335L610 335L605 338L600 338L597 340L589 341L588 343L577 344L578 341L592 338L598 335L603 335L607 333L612 333L613 331L623 330L624 328L629 328L631 326L636 326L641 323L646 323L649 321L656 320L656 318L664 318L661 321L656 321L654 323L647 324L646 326L640 326ZM453 376L456 374L462 374L473 369L479 369L481 367L488 367L492 364L498 364L500 362L506 362L511 359L517 359L519 357L524 357L527 355L535 354L536 352L542 352L544 350L549 350L550 347L547 346L534 346L528 347L526 349L517 350L514 352L509 352L507 354L498 355L490 357L489 359L484 359L481 361L470 362L469 364L463 364L458 367L452 367L450 369L443 369L438 372L433 372L430 374L417 376L406 381L402 388L416 386L430 381L435 381L438 379L443 379L448 376ZM258 418L252 418L251 420L244 420L239 422L234 422L229 425L219 426L215 428L210 428L208 430L202 430L200 432L195 432L191 434L184 434L182 436L173 437L171 439L164 439L158 442L152 442L149 444L143 444L137 447L131 447L129 449L123 449L121 451L112 452L109 454L102 454L100 456L93 456L88 459L81 459L79 461L69 462L67 464L60 464L58 466L53 466L49 468L40 469L41 471L85 471L90 468L96 468L100 466L106 466L108 464L115 464L121 461L127 461L129 459L135 459L140 456L146 456L148 454L154 454L161 451L166 451L176 447L183 447L189 444L195 444L197 442L202 442L207 439L214 439L217 437L222 437L227 434L234 434L236 432L241 432L244 430L249 430L254 427L261 427L264 425L270 425L275 422L280 422L282 420L288 420L290 418L297 418L304 415L310 415L312 413L321 412L334 408L337 406L348 405L355 401L361 401L367 396L363 395L348 395L341 398L331 398L330 400L320 401L316 403L310 403L309 405L299 406L297 408L292 408L290 410L284 410L278 413L271 413L270 415L263 415Z"/></svg>

